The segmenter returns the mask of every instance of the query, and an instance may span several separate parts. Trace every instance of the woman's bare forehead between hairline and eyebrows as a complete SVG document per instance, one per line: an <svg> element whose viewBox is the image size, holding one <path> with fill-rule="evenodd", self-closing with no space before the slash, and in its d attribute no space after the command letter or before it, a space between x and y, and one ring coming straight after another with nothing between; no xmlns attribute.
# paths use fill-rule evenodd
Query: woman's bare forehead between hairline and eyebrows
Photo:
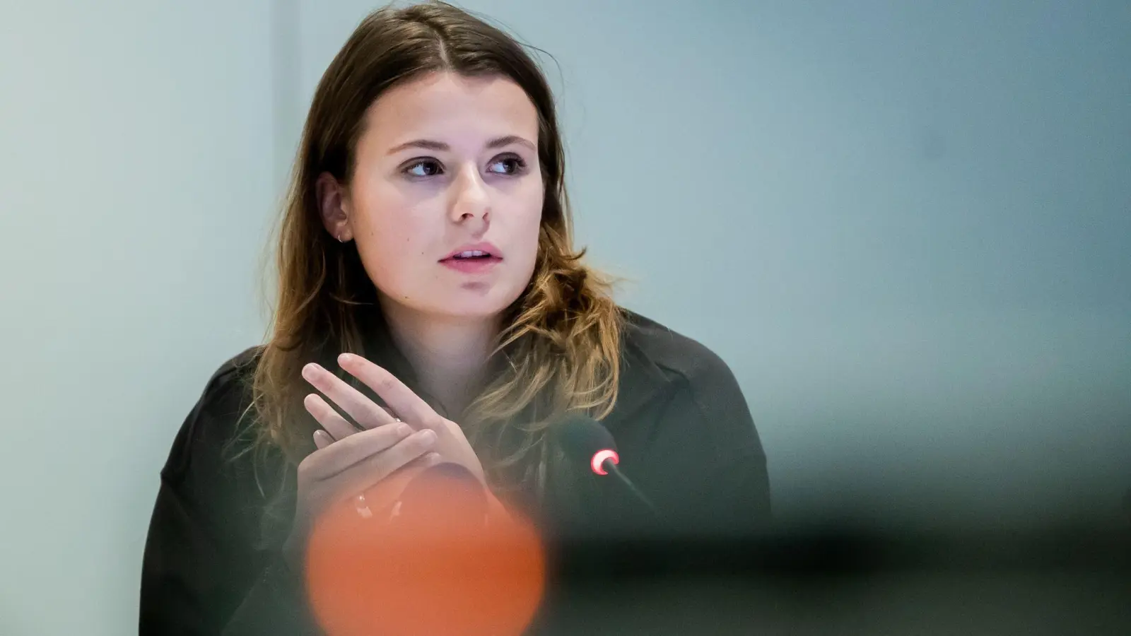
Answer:
<svg viewBox="0 0 1131 636"><path fill-rule="evenodd" d="M520 135L537 140L538 115L523 88L500 76L434 72L397 85L365 113L365 137L381 145L417 138ZM441 137L449 137L447 139Z"/></svg>

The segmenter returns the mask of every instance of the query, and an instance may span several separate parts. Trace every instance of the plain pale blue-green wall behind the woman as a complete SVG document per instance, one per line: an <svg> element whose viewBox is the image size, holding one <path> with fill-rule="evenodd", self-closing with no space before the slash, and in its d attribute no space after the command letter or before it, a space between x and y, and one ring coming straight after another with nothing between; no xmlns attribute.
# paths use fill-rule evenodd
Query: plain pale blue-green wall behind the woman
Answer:
<svg viewBox="0 0 1131 636"><path fill-rule="evenodd" d="M784 522L1131 487L1125 2L478 1L553 53L580 242L717 351ZM0 6L0 634L135 629L159 470L359 1Z"/></svg>

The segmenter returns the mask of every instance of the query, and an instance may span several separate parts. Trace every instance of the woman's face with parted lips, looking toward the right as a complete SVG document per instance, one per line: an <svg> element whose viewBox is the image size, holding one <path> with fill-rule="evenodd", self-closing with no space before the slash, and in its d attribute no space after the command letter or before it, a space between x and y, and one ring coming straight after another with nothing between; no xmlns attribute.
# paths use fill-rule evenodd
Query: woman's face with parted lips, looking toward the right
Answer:
<svg viewBox="0 0 1131 636"><path fill-rule="evenodd" d="M357 242L383 303L495 317L534 273L537 144L537 112L510 79L442 72L399 85L370 106L344 218L328 227Z"/></svg>

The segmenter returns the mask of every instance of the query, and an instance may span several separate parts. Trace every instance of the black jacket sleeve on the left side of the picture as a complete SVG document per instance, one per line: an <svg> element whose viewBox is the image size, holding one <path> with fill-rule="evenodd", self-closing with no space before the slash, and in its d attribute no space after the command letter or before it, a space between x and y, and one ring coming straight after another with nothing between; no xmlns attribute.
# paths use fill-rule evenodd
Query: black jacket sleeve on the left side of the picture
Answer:
<svg viewBox="0 0 1131 636"><path fill-rule="evenodd" d="M141 636L318 633L301 577L258 544L264 501L249 495L251 455L223 455L242 411L235 381L224 368L213 376L161 472L141 567Z"/></svg>

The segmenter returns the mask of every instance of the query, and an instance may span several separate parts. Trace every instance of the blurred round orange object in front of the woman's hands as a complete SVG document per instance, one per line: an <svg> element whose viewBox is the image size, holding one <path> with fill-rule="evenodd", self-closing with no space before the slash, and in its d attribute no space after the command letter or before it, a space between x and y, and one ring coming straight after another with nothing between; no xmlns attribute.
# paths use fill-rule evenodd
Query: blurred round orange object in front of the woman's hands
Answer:
<svg viewBox="0 0 1131 636"><path fill-rule="evenodd" d="M330 636L519 635L545 586L534 526L474 478L405 471L318 521L307 557Z"/></svg>

